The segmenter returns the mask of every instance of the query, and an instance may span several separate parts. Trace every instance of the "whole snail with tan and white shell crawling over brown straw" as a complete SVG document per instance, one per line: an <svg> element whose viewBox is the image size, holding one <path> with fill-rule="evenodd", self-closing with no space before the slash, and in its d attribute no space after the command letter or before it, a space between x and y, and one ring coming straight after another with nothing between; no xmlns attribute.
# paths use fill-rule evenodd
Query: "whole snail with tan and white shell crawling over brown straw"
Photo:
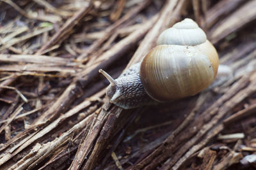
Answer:
<svg viewBox="0 0 256 170"><path fill-rule="evenodd" d="M218 53L205 32L186 18L163 31L157 46L116 80L99 70L110 82L106 95L110 103L124 109L194 96L217 74Z"/></svg>

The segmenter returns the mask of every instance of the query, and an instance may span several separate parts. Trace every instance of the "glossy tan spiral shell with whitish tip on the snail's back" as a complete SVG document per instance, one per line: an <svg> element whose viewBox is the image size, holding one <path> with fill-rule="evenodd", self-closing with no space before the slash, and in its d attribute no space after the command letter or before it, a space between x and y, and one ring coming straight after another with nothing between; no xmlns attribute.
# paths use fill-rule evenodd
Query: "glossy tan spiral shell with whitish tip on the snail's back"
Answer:
<svg viewBox="0 0 256 170"><path fill-rule="evenodd" d="M142 60L140 78L148 96L170 101L208 87L218 71L218 53L200 27L186 18L166 29Z"/></svg>

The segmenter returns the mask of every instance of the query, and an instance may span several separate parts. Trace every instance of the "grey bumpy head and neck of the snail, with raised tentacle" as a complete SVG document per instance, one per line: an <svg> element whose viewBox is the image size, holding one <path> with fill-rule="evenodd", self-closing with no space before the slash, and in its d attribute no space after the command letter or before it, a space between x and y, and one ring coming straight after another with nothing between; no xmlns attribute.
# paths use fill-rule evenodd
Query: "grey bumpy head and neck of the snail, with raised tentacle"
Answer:
<svg viewBox="0 0 256 170"><path fill-rule="evenodd" d="M137 108L154 101L148 96L140 79L140 63L129 67L116 80L113 80L108 73L99 70L109 80L106 94L109 102L124 109Z"/></svg>

